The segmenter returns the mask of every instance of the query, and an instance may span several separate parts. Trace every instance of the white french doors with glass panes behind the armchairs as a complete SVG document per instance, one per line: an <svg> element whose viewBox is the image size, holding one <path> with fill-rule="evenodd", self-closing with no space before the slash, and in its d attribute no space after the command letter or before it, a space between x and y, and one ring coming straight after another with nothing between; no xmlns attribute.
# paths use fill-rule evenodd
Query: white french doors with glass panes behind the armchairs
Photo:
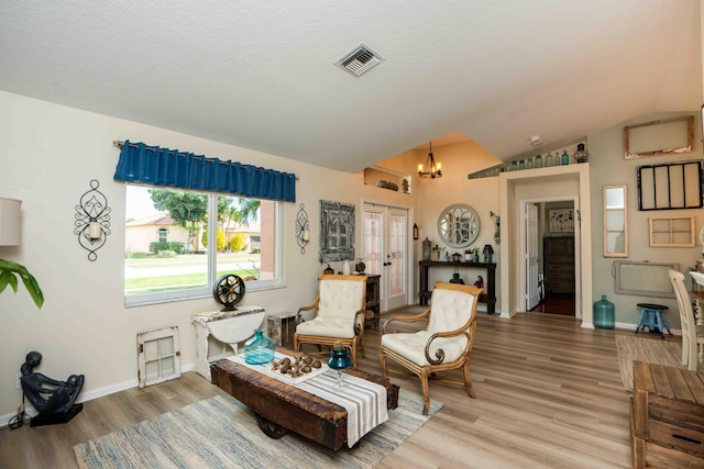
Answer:
<svg viewBox="0 0 704 469"><path fill-rule="evenodd" d="M408 304L408 210L364 204L366 273L381 275L381 311Z"/></svg>

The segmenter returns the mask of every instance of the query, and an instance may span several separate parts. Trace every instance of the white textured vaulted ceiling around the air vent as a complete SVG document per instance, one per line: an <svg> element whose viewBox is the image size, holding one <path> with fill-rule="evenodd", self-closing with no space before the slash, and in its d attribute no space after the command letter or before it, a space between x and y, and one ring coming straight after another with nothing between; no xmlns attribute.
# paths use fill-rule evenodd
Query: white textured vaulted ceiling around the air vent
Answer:
<svg viewBox="0 0 704 469"><path fill-rule="evenodd" d="M355 78L360 43L386 60ZM344 171L702 103L700 0L3 1L0 64L1 90Z"/></svg>

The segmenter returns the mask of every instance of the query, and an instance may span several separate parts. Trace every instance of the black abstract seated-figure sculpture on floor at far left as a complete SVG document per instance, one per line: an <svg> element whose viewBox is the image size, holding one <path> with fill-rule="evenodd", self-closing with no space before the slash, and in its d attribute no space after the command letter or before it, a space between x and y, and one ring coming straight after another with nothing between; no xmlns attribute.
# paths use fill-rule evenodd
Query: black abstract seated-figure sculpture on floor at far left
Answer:
<svg viewBox="0 0 704 469"><path fill-rule="evenodd" d="M42 361L42 354L30 351L20 370L22 391L38 415L32 418L31 426L66 423L82 410L76 399L84 387L82 375L72 375L66 381L58 381L34 372Z"/></svg>

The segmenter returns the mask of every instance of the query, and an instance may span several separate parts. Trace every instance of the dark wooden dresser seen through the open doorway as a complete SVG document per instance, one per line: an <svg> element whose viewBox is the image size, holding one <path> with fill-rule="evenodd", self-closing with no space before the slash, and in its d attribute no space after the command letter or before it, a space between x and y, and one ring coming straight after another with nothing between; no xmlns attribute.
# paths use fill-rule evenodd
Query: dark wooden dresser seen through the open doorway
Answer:
<svg viewBox="0 0 704 469"><path fill-rule="evenodd" d="M546 291L574 293L574 236L543 239Z"/></svg>

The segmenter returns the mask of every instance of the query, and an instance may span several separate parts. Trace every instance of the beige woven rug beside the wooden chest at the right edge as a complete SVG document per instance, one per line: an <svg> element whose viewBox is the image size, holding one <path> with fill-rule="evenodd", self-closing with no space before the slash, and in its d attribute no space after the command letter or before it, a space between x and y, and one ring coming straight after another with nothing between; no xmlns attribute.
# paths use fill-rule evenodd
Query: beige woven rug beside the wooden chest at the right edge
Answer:
<svg viewBox="0 0 704 469"><path fill-rule="evenodd" d="M664 365L674 368L682 366L682 340L676 338L646 338L634 335L617 335L618 366L620 379L627 391L634 390L634 360L648 364ZM697 371L704 372L704 365L698 364Z"/></svg>

